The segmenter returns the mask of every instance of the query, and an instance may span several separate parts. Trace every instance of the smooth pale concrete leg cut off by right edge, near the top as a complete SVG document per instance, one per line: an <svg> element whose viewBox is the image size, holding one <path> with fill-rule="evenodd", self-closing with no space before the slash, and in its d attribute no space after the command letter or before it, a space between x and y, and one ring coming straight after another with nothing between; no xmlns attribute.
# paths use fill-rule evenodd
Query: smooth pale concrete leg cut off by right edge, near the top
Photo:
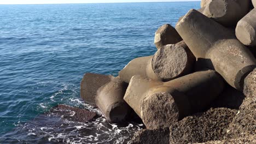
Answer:
<svg viewBox="0 0 256 144"><path fill-rule="evenodd" d="M236 26L236 37L244 45L256 46L256 9L251 10Z"/></svg>

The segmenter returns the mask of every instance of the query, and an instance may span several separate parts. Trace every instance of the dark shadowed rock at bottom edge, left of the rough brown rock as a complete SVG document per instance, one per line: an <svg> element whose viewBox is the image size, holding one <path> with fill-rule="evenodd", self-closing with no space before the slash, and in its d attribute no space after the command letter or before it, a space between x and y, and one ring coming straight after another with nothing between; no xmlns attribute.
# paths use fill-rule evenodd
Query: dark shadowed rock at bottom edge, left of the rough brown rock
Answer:
<svg viewBox="0 0 256 144"><path fill-rule="evenodd" d="M168 129L143 129L133 136L131 144L168 144L169 135Z"/></svg>

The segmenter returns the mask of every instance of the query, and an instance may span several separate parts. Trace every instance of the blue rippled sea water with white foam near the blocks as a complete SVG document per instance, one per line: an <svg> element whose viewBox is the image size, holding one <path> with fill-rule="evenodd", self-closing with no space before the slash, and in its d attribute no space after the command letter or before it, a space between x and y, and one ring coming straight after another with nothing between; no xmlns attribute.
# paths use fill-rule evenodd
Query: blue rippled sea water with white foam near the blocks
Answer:
<svg viewBox="0 0 256 144"><path fill-rule="evenodd" d="M0 5L0 143L127 143L142 123L62 121L48 112L80 99L84 73L118 75L153 55L154 33L200 2Z"/></svg>

